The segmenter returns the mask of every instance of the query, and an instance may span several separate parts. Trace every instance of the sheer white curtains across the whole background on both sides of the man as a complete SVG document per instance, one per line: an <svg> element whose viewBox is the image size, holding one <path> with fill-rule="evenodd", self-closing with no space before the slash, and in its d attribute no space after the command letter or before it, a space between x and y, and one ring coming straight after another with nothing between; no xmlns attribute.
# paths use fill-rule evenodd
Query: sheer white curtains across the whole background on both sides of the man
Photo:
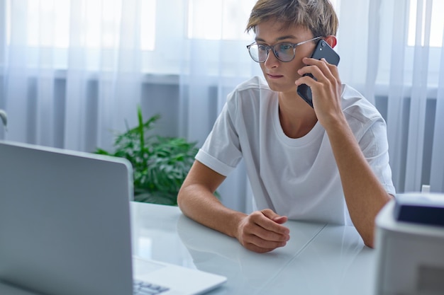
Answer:
<svg viewBox="0 0 444 295"><path fill-rule="evenodd" d="M245 48L254 2L0 0L0 139L110 149L141 105L162 132L202 144L227 94L260 74ZM341 79L386 118L398 192L444 192L440 2L334 1ZM220 192L250 209L242 164Z"/></svg>

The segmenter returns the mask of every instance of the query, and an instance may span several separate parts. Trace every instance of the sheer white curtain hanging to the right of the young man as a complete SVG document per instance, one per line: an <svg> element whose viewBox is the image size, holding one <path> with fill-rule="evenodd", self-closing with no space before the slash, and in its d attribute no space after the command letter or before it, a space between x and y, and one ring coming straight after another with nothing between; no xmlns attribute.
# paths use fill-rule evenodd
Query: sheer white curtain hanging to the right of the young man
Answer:
<svg viewBox="0 0 444 295"><path fill-rule="evenodd" d="M342 1L340 21L347 20L352 2ZM340 52L345 57L358 52L354 67L363 66L365 73L361 81L353 74L346 81L361 88L386 117L398 192L419 191L422 185L444 191L443 10L443 1L436 0L369 1L367 18L340 26ZM364 19L367 28L361 26ZM348 40L348 35L367 40Z"/></svg>

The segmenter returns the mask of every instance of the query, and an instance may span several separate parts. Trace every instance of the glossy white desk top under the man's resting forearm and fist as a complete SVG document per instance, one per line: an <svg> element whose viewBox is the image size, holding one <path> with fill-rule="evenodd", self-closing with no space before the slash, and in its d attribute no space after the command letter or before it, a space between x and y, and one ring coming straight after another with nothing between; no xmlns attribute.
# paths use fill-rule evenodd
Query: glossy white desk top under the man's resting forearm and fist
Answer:
<svg viewBox="0 0 444 295"><path fill-rule="evenodd" d="M257 254L177 207L131 209L135 254L228 277L209 294L373 294L375 253L353 227L288 221L289 243Z"/></svg>

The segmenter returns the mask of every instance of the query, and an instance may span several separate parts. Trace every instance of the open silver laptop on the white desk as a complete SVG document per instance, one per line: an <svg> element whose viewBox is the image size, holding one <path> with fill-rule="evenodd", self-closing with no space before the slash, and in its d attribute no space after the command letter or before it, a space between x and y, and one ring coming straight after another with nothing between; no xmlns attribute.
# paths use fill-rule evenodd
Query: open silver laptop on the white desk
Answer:
<svg viewBox="0 0 444 295"><path fill-rule="evenodd" d="M132 167L124 158L0 141L3 288L130 295L137 279L165 287L161 295L192 295L226 282L217 274L133 257L132 197Z"/></svg>

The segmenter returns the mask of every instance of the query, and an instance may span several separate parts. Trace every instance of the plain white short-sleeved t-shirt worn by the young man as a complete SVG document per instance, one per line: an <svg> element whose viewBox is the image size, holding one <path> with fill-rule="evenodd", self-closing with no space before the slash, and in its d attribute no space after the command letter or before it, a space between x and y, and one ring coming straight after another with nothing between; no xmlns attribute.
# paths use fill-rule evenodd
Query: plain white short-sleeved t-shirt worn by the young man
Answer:
<svg viewBox="0 0 444 295"><path fill-rule="evenodd" d="M394 195L384 119L349 86L343 85L341 99L365 158L385 190ZM326 130L317 122L304 137L287 137L279 122L277 92L257 76L228 95L196 155L196 160L222 175L228 175L241 158L255 209L270 208L289 219L352 224Z"/></svg>

